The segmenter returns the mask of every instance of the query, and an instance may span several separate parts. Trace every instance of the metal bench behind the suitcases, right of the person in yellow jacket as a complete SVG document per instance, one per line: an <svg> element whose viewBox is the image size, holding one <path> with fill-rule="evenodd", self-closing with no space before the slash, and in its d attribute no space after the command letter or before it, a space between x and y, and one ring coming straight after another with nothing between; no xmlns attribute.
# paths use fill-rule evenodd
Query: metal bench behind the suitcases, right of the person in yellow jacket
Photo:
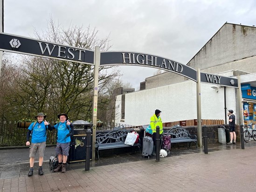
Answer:
<svg viewBox="0 0 256 192"><path fill-rule="evenodd" d="M163 133L167 135L171 135L171 144L189 142L189 147L190 147L191 143L194 142L197 148L196 135L190 135L186 129L181 128L180 126L173 126L169 130L164 130Z"/></svg>

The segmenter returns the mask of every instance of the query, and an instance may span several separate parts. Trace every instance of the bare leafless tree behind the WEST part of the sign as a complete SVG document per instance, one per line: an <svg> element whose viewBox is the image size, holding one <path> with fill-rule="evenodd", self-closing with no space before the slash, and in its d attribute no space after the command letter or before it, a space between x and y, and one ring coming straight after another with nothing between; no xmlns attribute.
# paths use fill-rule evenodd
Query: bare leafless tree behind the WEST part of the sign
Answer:
<svg viewBox="0 0 256 192"><path fill-rule="evenodd" d="M39 34L35 31L35 36L45 41L86 49L94 49L96 45L101 50L110 48L109 35L97 39L97 33L90 26L86 30L76 26L65 30L50 19L46 32ZM18 89L16 92L13 90L8 100L26 117L33 117L36 112L43 111L52 119L62 112L67 113L72 120L91 118L93 67L77 62L25 56L20 74L14 78ZM120 75L112 69L115 67L99 69L98 111L104 110L109 103L104 86Z"/></svg>

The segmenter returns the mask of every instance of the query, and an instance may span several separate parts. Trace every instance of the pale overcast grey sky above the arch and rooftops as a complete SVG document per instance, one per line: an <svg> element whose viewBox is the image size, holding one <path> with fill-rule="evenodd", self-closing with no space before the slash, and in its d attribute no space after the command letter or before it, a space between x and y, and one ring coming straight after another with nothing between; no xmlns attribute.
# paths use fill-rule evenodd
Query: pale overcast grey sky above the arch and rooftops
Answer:
<svg viewBox="0 0 256 192"><path fill-rule="evenodd" d="M227 21L256 25L255 0L4 0L4 32L35 38L50 19L110 34L111 51L159 55L187 64ZM139 87L157 69L123 66Z"/></svg>

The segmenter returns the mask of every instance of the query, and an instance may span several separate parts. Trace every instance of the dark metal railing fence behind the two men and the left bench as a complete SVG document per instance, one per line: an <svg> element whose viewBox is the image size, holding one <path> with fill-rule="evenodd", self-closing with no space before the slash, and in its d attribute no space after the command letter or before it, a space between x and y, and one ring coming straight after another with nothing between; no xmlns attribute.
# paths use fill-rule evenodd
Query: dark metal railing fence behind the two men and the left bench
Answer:
<svg viewBox="0 0 256 192"><path fill-rule="evenodd" d="M55 124L54 121L49 123L51 125ZM97 124L97 130L112 130L113 128L120 126L123 126L124 128L135 128L135 126L121 123L101 123ZM74 127L74 129L76 129L76 127ZM27 132L28 127L20 128L17 121L0 121L0 147L25 145ZM56 130L47 131L46 143L56 144Z"/></svg>

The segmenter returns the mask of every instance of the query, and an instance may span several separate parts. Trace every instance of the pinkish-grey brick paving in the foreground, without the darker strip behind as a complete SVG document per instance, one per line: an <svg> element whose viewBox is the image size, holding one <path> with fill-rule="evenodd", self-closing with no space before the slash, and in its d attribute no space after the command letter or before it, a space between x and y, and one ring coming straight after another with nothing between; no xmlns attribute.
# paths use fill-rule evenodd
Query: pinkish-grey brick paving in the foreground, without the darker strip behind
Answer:
<svg viewBox="0 0 256 192"><path fill-rule="evenodd" d="M227 150L0 179L2 192L255 192L256 142Z"/></svg>

